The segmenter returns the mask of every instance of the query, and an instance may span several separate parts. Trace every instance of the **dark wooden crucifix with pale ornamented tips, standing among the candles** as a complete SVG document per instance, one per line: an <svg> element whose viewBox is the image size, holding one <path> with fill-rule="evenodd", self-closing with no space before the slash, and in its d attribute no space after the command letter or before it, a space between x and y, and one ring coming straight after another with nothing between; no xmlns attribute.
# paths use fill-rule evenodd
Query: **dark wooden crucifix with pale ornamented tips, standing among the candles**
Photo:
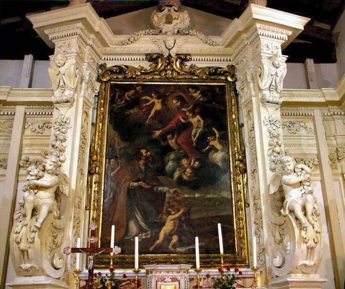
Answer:
<svg viewBox="0 0 345 289"><path fill-rule="evenodd" d="M85 253L88 256L88 262L87 262L87 271L88 271L88 278L86 281L86 285L88 289L93 288L93 270L94 270L94 257L102 254L102 253L114 253L115 255L119 254L121 252L121 248L115 246L114 248L97 248L96 243L98 241L96 235L96 229L97 229L96 223L91 223L89 225L90 228L90 237L87 237L87 242L90 243L89 248L70 248L66 247L64 248L64 253L66 255L69 255L70 253ZM79 269L79 268L76 268Z"/></svg>

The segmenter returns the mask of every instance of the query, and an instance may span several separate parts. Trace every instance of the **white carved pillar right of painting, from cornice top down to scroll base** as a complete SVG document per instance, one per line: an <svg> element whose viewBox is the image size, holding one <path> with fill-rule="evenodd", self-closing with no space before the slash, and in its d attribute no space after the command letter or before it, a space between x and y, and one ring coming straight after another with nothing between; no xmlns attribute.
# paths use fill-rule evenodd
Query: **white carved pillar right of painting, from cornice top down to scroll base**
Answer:
<svg viewBox="0 0 345 289"><path fill-rule="evenodd" d="M247 26L241 22L244 15L250 19ZM257 263L263 271L261 286L310 288L312 284L312 288L321 288L325 280L314 275L321 246L316 242L308 249L312 253L303 251L307 243L301 235L305 236L305 231L291 214L282 216L281 208L273 199L276 192L274 181L278 178L280 182L283 174L280 93L287 56L282 55L282 47L296 37L308 19L296 15L288 17L280 11L257 5L249 5L241 17L238 23L243 32L232 45L231 60L236 66L236 86L244 121L249 224L252 224L251 231L257 237ZM320 238L317 232L315 234ZM283 246L286 242L289 249ZM311 279L314 282L307 282Z"/></svg>

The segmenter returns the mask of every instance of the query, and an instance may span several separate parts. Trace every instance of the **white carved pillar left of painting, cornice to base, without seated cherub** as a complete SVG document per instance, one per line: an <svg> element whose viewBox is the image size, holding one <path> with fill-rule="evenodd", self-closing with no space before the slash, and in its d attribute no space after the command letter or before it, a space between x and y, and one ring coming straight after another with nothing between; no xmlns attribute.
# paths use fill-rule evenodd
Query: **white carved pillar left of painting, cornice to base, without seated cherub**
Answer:
<svg viewBox="0 0 345 289"><path fill-rule="evenodd" d="M80 6L87 10L86 14L95 17L90 5ZM14 245L12 259L17 263L14 267L17 275L23 277L16 278L10 284L13 288L29 288L35 280L40 280L40 286L46 284L46 288L50 288L49 284L54 282L59 283L56 285L59 288L66 288L66 283L74 282L72 272L75 267L75 256L65 260L62 249L67 246L75 247L77 238L82 235L92 109L94 96L99 89L96 77L100 62L99 41L89 32L93 25L89 23L85 27L85 19L76 20L79 23L73 25L71 22L61 21L62 15L78 13L80 6L70 6L29 17L34 27L41 28L41 37L51 39L55 46L47 72L54 94L51 148L48 155L59 159L59 176L64 176L64 188L66 187L67 192L66 196L62 197L59 207L61 218L56 219L50 213L41 228L35 229L35 246L25 248L30 252L29 259L23 260L23 248ZM90 19L87 21L90 22ZM60 75L63 75L63 78ZM31 226L31 223L28 226ZM53 236L51 230L55 230ZM15 230L12 230L13 239L16 237L15 234ZM57 246L54 251L44 254L44 246L51 242L52 238ZM83 239L86 239L86 236ZM36 248L41 248L41 252L34 256L32 250ZM45 259L46 255L48 260ZM30 266L31 269L25 271L23 266L20 268L23 262L25 268ZM66 283L58 282L60 278L64 278Z"/></svg>

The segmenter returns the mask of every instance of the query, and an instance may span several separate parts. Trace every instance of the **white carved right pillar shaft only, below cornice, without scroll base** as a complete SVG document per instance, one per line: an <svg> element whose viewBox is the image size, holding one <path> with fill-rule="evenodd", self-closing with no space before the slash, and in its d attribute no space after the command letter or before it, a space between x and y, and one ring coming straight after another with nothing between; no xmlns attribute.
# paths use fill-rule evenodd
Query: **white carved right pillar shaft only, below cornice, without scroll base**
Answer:
<svg viewBox="0 0 345 289"><path fill-rule="evenodd" d="M251 26L245 38L238 41L250 39L251 44L235 51L232 59L237 69L237 90L244 120L251 230L256 236L257 263L264 274L271 258L271 251L267 249L270 242L268 186L272 173L278 171L283 153L281 87L276 84L285 76L286 57L281 55L280 46L291 34L288 30L279 30L277 36L271 31L274 28L270 26Z"/></svg>

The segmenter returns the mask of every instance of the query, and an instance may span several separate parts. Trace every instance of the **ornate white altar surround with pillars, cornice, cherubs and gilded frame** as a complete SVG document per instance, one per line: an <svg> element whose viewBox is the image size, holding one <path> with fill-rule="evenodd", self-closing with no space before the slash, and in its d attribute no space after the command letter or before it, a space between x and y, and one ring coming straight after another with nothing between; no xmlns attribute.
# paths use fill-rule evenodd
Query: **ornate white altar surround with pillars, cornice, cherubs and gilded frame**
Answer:
<svg viewBox="0 0 345 289"><path fill-rule="evenodd" d="M316 272L321 258L322 224L310 185L310 168L285 156L281 137L281 91L287 58L281 51L303 31L308 19L249 4L221 36L208 37L189 29L190 16L180 1L159 1L150 18L152 29L125 36L114 35L90 4L71 2L73 5L66 8L28 16L38 35L50 47L55 47L49 68L53 111L50 146L39 160L27 166L28 182L15 212L10 246L18 277L8 286L75 288L74 272L80 268L77 284L83 288L90 253L79 265L79 257L65 255L63 248L84 249L90 248L90 244L95 244L95 248L110 247L110 231L102 235L101 229L102 218L107 217L107 213L102 215L103 206L107 206L105 169L111 162L106 152L106 131L111 130L107 128L108 112L111 107L116 111L122 104L133 104L130 93L123 98L131 99L129 102L110 103L111 95L116 95L116 88L112 90L110 83L122 85L117 86L119 89L134 85L137 91L133 94L141 93L142 88L149 91L149 84L161 85L155 87L173 93L177 87L173 85L180 85L180 89L187 83L199 88L208 84L225 87L222 109L226 112L224 127L228 127L225 128L228 146L223 156L227 155L229 162L226 169L230 175L228 199L233 231L224 225L223 230L229 229L225 239L233 238L232 251L225 246L225 252L220 255L218 248L217 251L207 248L206 252L201 246L203 271L199 276L199 272L190 270L194 265L193 253L178 254L172 250L153 254L150 252L154 248L148 247L140 255L140 267L145 265L145 270L138 274L131 270L133 253L121 245L124 252L113 259L115 277L127 275L127 287L131 289L137 286L137 282L135 286L133 283L136 277L143 289L160 289L161 285L175 286L175 289L211 288L213 283L206 275L218 276L219 266L231 265L241 267L241 287L258 285L250 269L258 267L259 287L321 288L326 280ZM170 86L165 88L163 84ZM217 87L214 91L221 91ZM152 101L150 96L145 97ZM207 97L202 100L200 95L195 97L198 101L187 101L194 105L194 114L198 113L197 105L206 106L206 103L220 110L219 102L207 102ZM170 106L166 111L169 109L176 108ZM143 111L141 115L147 113ZM154 111L146 116L147 124L157 122ZM196 147L197 131L193 133ZM218 134L217 131L217 139ZM193 159L193 152L189 157L191 165L195 165L197 158ZM194 176L182 173L180 177L185 177L182 182L194 180ZM291 183L297 184L297 189L292 189ZM166 193L179 195L171 190ZM172 200L178 203L178 197ZM195 214L191 210L187 212L182 203L178 206L181 213ZM93 222L100 229L90 235L91 230L87 228ZM194 229L197 227L196 223L189 224ZM130 225L127 222L125 228ZM124 234L117 236L118 231L115 242L120 242ZM217 233L214 235L218 246ZM102 236L108 239L101 240ZM171 248L176 249L172 245ZM92 256L92 261L92 266L99 268L96 272L108 273L109 255L100 253L95 260ZM165 267L157 263L165 263Z"/></svg>

